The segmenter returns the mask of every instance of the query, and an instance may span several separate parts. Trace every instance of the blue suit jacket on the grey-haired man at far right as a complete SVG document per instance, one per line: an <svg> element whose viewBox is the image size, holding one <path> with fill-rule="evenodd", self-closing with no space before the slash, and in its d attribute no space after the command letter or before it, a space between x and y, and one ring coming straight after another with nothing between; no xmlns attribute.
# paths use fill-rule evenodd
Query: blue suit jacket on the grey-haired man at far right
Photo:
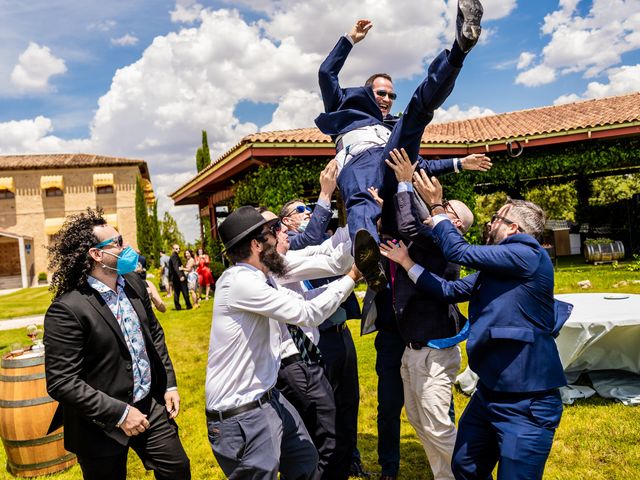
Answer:
<svg viewBox="0 0 640 480"><path fill-rule="evenodd" d="M469 245L448 221L433 234L451 262L478 270L457 281L428 272L418 286L450 301L469 300L469 366L487 388L537 392L566 385L555 333L553 266L530 235Z"/></svg>

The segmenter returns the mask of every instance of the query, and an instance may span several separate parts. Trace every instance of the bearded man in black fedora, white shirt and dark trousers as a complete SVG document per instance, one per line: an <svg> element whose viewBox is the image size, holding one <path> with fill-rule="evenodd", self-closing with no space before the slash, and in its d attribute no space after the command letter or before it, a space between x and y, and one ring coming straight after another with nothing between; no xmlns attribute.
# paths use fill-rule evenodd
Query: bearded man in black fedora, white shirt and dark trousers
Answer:
<svg viewBox="0 0 640 480"><path fill-rule="evenodd" d="M278 288L279 220L240 207L220 225L233 266L216 282L206 376L211 448L229 478L311 478L318 454L299 414L275 388L280 323L317 326L352 291L354 267L313 299Z"/></svg>

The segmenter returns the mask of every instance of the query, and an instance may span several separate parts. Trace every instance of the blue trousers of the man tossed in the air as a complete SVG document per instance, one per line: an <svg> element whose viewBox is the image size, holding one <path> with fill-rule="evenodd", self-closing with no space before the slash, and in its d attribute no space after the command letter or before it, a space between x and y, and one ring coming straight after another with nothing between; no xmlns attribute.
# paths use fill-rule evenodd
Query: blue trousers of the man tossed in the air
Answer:
<svg viewBox="0 0 640 480"><path fill-rule="evenodd" d="M338 186L347 209L349 234L353 241L356 232L366 229L378 240L376 222L381 211L367 188L373 186L381 190L387 208L393 218L393 201L396 178L386 167L384 160L394 148L404 148L409 158L415 159L420 150L420 141L425 127L433 119L433 112L439 108L453 90L460 68L452 66L447 59L447 51L442 51L429 65L426 78L414 92L402 117L394 125L391 137L385 147L370 148L356 155L344 166L338 177ZM426 161L420 165L427 168ZM395 224L395 221L393 221ZM392 225L395 231L395 225Z"/></svg>

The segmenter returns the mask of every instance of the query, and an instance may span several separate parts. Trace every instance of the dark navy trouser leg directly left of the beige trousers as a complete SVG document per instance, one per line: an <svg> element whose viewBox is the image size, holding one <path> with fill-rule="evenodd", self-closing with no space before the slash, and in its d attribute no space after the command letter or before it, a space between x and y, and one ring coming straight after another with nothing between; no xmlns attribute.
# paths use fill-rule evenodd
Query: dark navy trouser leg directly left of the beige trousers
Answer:
<svg viewBox="0 0 640 480"><path fill-rule="evenodd" d="M378 374L378 463L382 475L397 475L400 468L400 413L404 389L400 365L405 344L398 332L381 330L376 335Z"/></svg>

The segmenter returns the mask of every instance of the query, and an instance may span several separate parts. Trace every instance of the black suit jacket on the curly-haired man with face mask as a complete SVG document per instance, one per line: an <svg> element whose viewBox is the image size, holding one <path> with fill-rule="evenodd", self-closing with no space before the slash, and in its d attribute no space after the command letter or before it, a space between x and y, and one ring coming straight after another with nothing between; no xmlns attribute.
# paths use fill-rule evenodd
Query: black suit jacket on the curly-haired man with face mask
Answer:
<svg viewBox="0 0 640 480"><path fill-rule="evenodd" d="M164 405L176 386L164 332L146 285L130 273L125 292L135 309L151 364L151 393ZM81 456L114 455L129 442L116 427L133 404L132 359L109 306L90 286L54 299L44 318L47 391L60 402L49 428L64 424L65 448Z"/></svg>

